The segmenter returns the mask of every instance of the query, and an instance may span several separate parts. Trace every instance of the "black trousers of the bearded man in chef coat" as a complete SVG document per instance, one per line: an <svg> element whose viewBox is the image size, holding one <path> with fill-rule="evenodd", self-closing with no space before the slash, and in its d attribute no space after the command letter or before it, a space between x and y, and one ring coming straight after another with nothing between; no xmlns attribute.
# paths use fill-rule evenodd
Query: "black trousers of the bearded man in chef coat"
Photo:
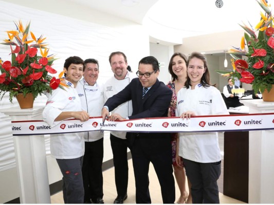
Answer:
<svg viewBox="0 0 274 205"><path fill-rule="evenodd" d="M111 134L111 146L117 195L123 197L127 193L127 182L129 181L129 166L127 164L127 140L120 139Z"/></svg>

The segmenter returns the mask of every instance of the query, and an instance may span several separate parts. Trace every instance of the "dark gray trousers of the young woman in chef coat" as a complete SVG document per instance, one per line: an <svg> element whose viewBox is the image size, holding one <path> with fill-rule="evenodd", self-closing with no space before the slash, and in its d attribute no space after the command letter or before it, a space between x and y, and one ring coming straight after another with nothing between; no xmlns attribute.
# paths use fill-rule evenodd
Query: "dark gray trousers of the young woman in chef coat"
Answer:
<svg viewBox="0 0 274 205"><path fill-rule="evenodd" d="M191 182L193 203L220 203L217 179L221 174L221 161L200 163L183 159L187 177Z"/></svg>

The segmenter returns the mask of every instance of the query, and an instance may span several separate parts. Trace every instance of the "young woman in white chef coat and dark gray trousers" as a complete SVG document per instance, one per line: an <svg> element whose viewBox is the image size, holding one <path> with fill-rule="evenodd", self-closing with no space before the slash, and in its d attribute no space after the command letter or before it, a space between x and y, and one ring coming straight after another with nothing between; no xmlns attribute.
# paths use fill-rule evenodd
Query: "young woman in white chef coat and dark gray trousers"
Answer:
<svg viewBox="0 0 274 205"><path fill-rule="evenodd" d="M187 81L177 94L176 116L227 115L223 97L209 83L206 57L194 52L187 62ZM190 120L190 119L189 119ZM190 120L191 121L191 120ZM220 203L217 179L221 174L221 153L217 132L179 133L176 162L184 161L192 187L193 203Z"/></svg>

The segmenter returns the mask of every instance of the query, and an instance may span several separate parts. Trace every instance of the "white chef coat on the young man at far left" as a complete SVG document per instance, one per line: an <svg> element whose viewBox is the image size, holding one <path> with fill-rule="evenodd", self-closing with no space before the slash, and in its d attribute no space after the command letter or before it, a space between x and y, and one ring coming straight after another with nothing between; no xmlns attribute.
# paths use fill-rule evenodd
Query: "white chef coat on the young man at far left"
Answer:
<svg viewBox="0 0 274 205"><path fill-rule="evenodd" d="M43 120L51 127L62 121L54 121L62 112L81 111L81 100L74 85L66 81L68 88L57 88L48 95ZM50 152L56 159L74 159L84 155L85 141L83 132L50 135Z"/></svg>

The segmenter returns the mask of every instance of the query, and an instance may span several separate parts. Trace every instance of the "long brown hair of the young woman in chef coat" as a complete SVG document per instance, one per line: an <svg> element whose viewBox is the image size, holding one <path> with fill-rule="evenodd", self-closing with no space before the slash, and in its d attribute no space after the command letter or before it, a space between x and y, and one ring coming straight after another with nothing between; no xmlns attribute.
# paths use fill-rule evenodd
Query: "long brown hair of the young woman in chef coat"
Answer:
<svg viewBox="0 0 274 205"><path fill-rule="evenodd" d="M208 67L207 67L207 58L206 58L205 55L203 55L202 53L198 53L198 52L191 53L191 55L188 57L187 67L189 66L189 61L192 58L194 58L194 57L196 57L198 59L201 59L204 62L204 68L206 69L205 73L203 74L203 76L201 78L201 84L202 84L202 86L204 88L209 87L209 86L216 87L216 84L210 85L210 76L209 76L209 70L208 70ZM191 81L190 81L190 78L188 76L187 77L187 81L186 81L186 87L187 87L187 89L189 88L189 86L191 86Z"/></svg>

